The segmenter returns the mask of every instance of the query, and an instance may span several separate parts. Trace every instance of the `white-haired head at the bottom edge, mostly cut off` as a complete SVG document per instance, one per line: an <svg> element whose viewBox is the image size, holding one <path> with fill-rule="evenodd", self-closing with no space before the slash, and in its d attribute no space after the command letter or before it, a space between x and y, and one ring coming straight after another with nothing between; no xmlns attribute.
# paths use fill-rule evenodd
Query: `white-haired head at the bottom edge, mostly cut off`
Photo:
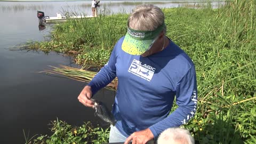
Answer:
<svg viewBox="0 0 256 144"><path fill-rule="evenodd" d="M188 130L172 127L164 130L158 137L157 144L182 142L183 144L194 144L194 138Z"/></svg>

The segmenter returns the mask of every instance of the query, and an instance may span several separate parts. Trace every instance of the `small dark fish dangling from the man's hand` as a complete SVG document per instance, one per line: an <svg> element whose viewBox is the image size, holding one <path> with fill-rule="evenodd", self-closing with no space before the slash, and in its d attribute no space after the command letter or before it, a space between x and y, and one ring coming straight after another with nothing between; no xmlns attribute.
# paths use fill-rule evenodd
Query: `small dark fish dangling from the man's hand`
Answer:
<svg viewBox="0 0 256 144"><path fill-rule="evenodd" d="M116 119L114 115L108 110L106 105L98 100L91 99L94 102L94 109L95 109L95 116L98 116L101 118L103 121L115 126L116 124Z"/></svg>

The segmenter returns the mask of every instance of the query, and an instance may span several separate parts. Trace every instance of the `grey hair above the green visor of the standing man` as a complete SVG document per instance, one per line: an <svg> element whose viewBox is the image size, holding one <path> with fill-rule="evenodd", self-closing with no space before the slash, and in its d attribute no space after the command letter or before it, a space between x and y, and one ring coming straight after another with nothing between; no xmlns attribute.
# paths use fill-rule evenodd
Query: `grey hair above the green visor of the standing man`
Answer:
<svg viewBox="0 0 256 144"><path fill-rule="evenodd" d="M128 19L128 26L135 30L155 30L164 23L163 11L152 4L137 6ZM166 33L166 27L164 28Z"/></svg>

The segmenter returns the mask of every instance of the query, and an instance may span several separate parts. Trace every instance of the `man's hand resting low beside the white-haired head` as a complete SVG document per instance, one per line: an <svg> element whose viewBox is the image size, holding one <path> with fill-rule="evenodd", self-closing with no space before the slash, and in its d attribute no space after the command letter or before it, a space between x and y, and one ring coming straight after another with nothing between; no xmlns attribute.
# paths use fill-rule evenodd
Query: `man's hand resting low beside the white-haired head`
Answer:
<svg viewBox="0 0 256 144"><path fill-rule="evenodd" d="M131 134L126 139L124 144L128 144L130 141L132 141L132 144L145 144L153 138L154 138L153 133L149 129L146 129L146 130L134 132L133 134Z"/></svg>

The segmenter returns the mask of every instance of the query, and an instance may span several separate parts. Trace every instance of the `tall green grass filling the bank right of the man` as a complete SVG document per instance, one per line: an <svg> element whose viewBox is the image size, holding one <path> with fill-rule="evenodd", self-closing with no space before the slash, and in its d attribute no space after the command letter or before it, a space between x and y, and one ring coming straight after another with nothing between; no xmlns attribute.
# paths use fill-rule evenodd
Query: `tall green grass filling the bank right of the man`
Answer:
<svg viewBox="0 0 256 144"><path fill-rule="evenodd" d="M174 18L175 12L186 17ZM169 23L175 28L168 35L188 52L197 71L199 117L187 127L193 131L196 124L202 127L195 133L202 143L234 143L237 138L251 143L251 135L256 137L255 1L232 1L218 10L180 9L170 18L179 23ZM244 100L249 101L240 103ZM219 116L224 120L216 119Z"/></svg>

